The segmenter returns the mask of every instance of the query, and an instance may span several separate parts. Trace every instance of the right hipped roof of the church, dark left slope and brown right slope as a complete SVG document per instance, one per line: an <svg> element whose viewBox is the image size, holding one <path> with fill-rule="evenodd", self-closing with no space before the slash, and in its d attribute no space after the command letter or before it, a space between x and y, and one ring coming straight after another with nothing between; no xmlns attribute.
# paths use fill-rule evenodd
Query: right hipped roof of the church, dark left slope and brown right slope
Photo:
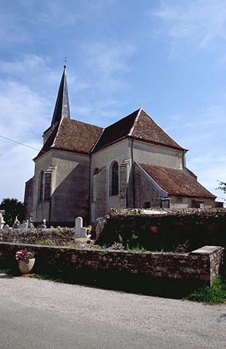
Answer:
<svg viewBox="0 0 226 349"><path fill-rule="evenodd" d="M152 144L185 150L140 108L113 125L106 127L94 147L94 151L125 137L134 137Z"/></svg>

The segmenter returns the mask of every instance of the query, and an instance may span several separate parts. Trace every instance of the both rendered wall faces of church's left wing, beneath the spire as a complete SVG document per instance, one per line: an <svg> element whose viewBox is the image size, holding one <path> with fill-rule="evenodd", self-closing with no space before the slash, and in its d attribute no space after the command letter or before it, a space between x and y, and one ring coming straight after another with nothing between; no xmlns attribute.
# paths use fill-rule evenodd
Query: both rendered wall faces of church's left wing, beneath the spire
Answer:
<svg viewBox="0 0 226 349"><path fill-rule="evenodd" d="M44 172L44 196L39 198L40 173ZM38 158L34 175L33 221L89 221L89 156L52 149Z"/></svg>

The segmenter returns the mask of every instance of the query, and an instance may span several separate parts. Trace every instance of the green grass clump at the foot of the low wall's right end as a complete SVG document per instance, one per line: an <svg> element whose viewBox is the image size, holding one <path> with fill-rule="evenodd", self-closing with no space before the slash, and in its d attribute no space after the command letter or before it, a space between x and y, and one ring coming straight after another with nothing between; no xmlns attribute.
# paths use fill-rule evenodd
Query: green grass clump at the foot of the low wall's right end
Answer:
<svg viewBox="0 0 226 349"><path fill-rule="evenodd" d="M226 303L225 277L218 275L213 280L212 286L203 286L191 293L186 299L211 305Z"/></svg>

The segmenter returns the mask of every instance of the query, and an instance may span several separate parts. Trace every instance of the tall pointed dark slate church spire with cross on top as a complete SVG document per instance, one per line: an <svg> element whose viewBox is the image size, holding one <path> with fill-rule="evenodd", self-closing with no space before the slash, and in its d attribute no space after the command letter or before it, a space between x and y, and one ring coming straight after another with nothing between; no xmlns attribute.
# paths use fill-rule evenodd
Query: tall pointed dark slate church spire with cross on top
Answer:
<svg viewBox="0 0 226 349"><path fill-rule="evenodd" d="M61 77L61 84L58 89L58 96L56 99L56 106L54 108L54 114L51 122L51 126L59 125L62 118L70 119L70 108L68 99L68 84L66 75L66 66L64 65L63 75Z"/></svg>

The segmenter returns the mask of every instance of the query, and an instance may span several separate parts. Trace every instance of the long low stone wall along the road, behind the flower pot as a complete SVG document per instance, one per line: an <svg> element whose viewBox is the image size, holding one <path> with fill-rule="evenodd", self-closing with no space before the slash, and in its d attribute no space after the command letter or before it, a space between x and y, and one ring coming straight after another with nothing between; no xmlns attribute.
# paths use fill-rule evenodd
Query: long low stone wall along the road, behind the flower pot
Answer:
<svg viewBox="0 0 226 349"><path fill-rule="evenodd" d="M201 281L208 285L218 275L224 253L224 248L219 246L205 246L191 253L164 253L0 243L0 262L16 263L15 253L21 248L34 250L36 263L42 270L53 265Z"/></svg>

